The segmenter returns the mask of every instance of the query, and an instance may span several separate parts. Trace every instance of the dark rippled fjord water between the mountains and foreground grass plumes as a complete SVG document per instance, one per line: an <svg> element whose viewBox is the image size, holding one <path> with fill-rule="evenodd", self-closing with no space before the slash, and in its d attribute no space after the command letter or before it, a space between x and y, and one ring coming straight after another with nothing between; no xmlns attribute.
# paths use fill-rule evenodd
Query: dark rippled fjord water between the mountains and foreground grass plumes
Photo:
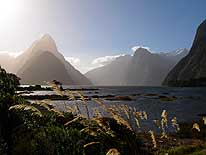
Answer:
<svg viewBox="0 0 206 155"><path fill-rule="evenodd" d="M206 114L206 87L130 87L130 86L64 86L64 88L85 88L83 91L86 96L129 96L131 101L107 100L103 99L107 105L126 104L135 107L138 111L146 111L148 121L142 122L143 127L154 127L153 120L160 119L163 110L167 110L169 119L177 117L178 122L191 122L201 119L200 115ZM30 95L56 94L52 91L35 91ZM161 97L174 98L167 101ZM81 101L76 101L82 111L85 111ZM51 101L56 108L65 110L65 107L74 106L74 101ZM94 109L100 111L101 107L92 100L88 101L90 115ZM103 112L103 114L107 115Z"/></svg>

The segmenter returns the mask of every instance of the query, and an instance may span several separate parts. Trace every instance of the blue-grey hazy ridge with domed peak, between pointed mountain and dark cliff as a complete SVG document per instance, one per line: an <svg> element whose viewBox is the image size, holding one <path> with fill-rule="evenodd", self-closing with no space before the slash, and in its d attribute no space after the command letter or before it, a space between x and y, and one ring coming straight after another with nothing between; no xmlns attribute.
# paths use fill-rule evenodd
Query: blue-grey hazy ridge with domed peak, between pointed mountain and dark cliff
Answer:
<svg viewBox="0 0 206 155"><path fill-rule="evenodd" d="M170 69L187 54L187 49L151 53L139 47L133 56L122 56L85 75L95 85L160 86Z"/></svg>

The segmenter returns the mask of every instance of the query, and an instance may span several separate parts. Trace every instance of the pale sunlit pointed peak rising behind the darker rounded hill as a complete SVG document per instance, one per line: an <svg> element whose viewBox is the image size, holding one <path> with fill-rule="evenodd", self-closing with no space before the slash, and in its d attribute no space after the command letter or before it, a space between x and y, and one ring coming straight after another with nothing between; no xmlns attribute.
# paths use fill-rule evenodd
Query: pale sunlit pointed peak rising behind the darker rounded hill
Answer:
<svg viewBox="0 0 206 155"><path fill-rule="evenodd" d="M32 59L38 57L44 52L51 53L53 56L55 56L59 60L59 63L61 62L62 67L64 67L64 70L62 69L62 71L64 72L58 72L57 70L51 70L51 69L49 70L50 72L53 71L53 72L58 72L59 74L61 73L62 74L61 79L62 80L64 79L63 81L61 81L63 84L71 84L71 85L90 85L91 84L91 82L83 74L81 74L69 62L67 62L64 59L64 56L58 52L55 41L48 34L44 35L41 39L35 41L30 48L28 48L22 55L20 55L17 58L16 60L17 67L15 68L17 75L21 77L22 79L25 79L24 78L25 74L23 74L23 72L25 72L28 64L30 64L30 61L33 62ZM46 66L48 66L47 61L48 61L47 58L44 57L44 64ZM38 66L38 63L33 63L32 65L36 65L35 67L37 68L40 67ZM51 66L54 66L54 65L51 64ZM38 72L36 72L35 74L38 74ZM50 73L48 73L47 70L45 70L45 74L42 74L42 80L44 81L47 80L46 74L50 74ZM68 76L67 78L64 77L65 75L69 75L69 78ZM35 81L34 78L32 80L34 83L37 82ZM22 80L22 82L23 81L24 80ZM27 80L27 81L31 81L31 80ZM25 82L26 81L24 81L24 83Z"/></svg>

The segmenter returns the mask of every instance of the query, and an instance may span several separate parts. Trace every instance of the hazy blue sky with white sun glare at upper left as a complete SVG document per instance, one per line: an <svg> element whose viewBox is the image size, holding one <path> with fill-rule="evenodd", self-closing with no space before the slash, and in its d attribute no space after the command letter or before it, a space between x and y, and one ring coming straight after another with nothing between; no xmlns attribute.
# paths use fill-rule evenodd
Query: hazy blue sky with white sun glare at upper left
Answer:
<svg viewBox="0 0 206 155"><path fill-rule="evenodd" d="M82 64L129 53L190 48L206 0L0 0L0 51L19 52L42 34Z"/></svg>

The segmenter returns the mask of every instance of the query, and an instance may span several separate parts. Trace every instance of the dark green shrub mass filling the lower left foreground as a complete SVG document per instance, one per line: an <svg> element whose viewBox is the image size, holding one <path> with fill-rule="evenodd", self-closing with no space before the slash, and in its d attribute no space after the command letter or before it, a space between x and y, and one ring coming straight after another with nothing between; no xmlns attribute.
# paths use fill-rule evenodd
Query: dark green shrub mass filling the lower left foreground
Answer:
<svg viewBox="0 0 206 155"><path fill-rule="evenodd" d="M18 77L0 68L0 154L136 155L144 152L141 140L123 124L111 118L91 118L83 96L86 116L77 104L75 113L72 108L68 112L58 111L48 100L29 103L16 95L18 85Z"/></svg>

